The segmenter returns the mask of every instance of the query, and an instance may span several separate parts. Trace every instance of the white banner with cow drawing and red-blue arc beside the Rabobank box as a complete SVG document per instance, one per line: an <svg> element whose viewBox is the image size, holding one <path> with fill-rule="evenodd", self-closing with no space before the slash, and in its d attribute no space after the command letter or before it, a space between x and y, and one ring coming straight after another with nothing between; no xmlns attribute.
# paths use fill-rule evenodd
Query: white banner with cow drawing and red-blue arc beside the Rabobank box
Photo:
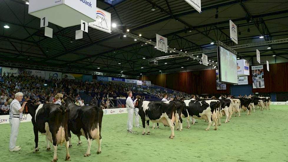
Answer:
<svg viewBox="0 0 288 162"><path fill-rule="evenodd" d="M111 13L96 7L96 21L90 22L89 27L111 33Z"/></svg>

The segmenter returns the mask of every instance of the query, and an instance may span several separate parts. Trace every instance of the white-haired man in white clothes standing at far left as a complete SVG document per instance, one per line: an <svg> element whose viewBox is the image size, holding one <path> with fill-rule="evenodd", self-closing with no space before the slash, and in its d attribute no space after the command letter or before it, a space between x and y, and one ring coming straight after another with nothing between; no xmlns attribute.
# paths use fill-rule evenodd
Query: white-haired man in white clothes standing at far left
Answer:
<svg viewBox="0 0 288 162"><path fill-rule="evenodd" d="M15 94L15 99L10 103L10 116L9 123L11 126L10 142L9 142L9 151L20 151L21 147L16 146L16 140L19 133L20 119L22 119L22 112L25 108L27 102L24 102L22 106L20 101L22 101L23 93L18 92Z"/></svg>

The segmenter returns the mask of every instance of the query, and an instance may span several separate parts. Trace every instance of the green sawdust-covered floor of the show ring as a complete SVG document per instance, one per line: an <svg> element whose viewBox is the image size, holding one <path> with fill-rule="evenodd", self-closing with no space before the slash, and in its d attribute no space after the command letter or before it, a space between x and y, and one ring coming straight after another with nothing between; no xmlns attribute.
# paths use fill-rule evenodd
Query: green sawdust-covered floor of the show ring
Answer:
<svg viewBox="0 0 288 162"><path fill-rule="evenodd" d="M82 146L77 146L77 136L72 135L71 160L78 161L244 161L244 162L288 162L288 105L271 105L271 110L260 111L247 116L232 117L218 130L205 131L208 123L197 120L196 125L183 131L175 130L175 138L169 139L170 128L160 124L160 129L142 135L143 128L133 128L135 134L126 132L127 114L104 115L102 123L102 153L97 155L98 144L94 140L91 156L84 157L87 142L82 136ZM184 119L185 120L185 119ZM186 121L186 120L185 120ZM150 124L151 126L151 124ZM0 161L51 161L51 151L46 151L45 136L39 134L39 153L34 150L34 133L31 122L21 123L17 145L19 152L10 153L10 125L1 124ZM66 149L58 146L58 161L65 160Z"/></svg>

